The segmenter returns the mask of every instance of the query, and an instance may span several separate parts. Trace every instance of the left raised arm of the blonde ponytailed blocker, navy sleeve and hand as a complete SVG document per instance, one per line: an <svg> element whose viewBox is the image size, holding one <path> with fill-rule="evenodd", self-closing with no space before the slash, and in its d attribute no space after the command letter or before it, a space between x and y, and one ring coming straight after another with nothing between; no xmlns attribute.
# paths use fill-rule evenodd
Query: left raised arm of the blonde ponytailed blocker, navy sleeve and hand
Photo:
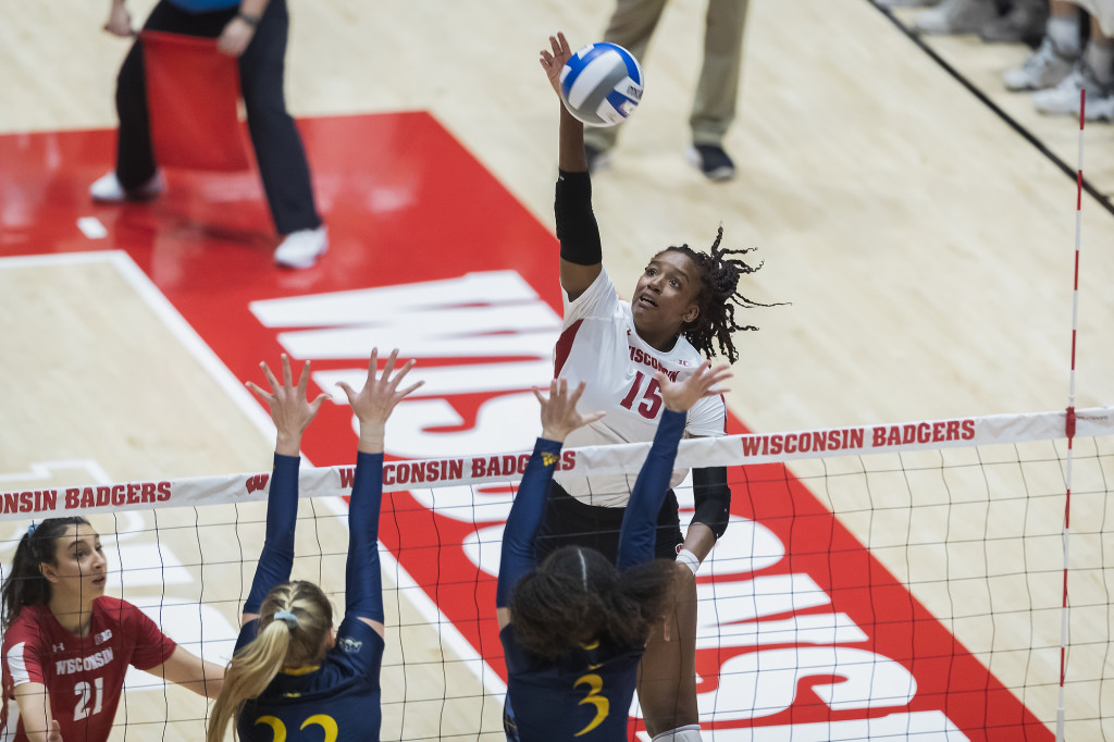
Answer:
<svg viewBox="0 0 1114 742"><path fill-rule="evenodd" d="M271 391L254 382L247 388L266 402L271 420L275 423L275 458L267 490L267 524L260 564L255 568L252 589L244 603L243 623L258 618L260 606L271 588L290 579L294 566L294 527L297 523L297 472L302 462L300 451L302 435L321 404L329 399L320 394L310 402L306 387L310 383L310 362L302 367L302 375L295 385L290 370L290 359L282 355L282 383L275 379L266 363L261 363Z"/></svg>

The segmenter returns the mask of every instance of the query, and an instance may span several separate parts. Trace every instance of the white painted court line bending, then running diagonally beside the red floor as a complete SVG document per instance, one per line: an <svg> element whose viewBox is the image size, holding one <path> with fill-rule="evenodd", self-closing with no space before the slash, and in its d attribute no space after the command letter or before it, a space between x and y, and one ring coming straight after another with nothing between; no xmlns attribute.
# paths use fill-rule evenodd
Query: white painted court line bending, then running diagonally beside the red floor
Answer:
<svg viewBox="0 0 1114 742"><path fill-rule="evenodd" d="M59 253L52 255L20 255L14 257L0 257L0 269L4 267L35 267L51 265L81 265L91 263L109 263L120 272L120 274L131 284L152 311L163 320L172 334L190 352L198 363L209 373L214 381L228 393L236 407L247 416L248 420L264 436L274 435L274 423L271 416L261 408L251 392L240 383L235 374L217 357L213 349L202 339L197 331L186 322L170 301L159 291L158 286L144 273L131 256L120 250L94 251L87 253ZM306 463L312 466L309 459ZM325 500L333 515L348 528L348 507L343 505L341 498L322 498ZM385 553L385 554L384 554ZM402 565L398 563L394 555L388 549L380 549L381 559L384 566L392 569L395 576L395 584L399 589L413 588L407 593L407 598L413 604L418 612L426 618L427 623L439 629L441 640L465 662L483 686L495 696L502 696L507 692L507 686L499 677L498 673L479 655L456 625L449 621L448 616L441 612L436 603L421 588L413 577L410 576Z"/></svg>

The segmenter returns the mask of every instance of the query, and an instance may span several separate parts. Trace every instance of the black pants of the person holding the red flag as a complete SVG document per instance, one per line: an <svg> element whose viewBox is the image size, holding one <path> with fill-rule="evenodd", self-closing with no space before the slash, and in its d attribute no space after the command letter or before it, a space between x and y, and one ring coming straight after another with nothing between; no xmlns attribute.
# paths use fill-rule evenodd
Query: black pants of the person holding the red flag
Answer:
<svg viewBox="0 0 1114 742"><path fill-rule="evenodd" d="M144 29L215 39L237 9L188 13L162 0ZM263 189L278 234L321 226L313 203L310 166L294 119L286 113L283 76L290 21L286 0L271 0L255 36L240 57L240 84L247 109L247 128L255 147ZM155 175L155 153L150 143L147 113L147 81L143 42L128 52L116 81L117 134L116 177L125 189L135 188Z"/></svg>

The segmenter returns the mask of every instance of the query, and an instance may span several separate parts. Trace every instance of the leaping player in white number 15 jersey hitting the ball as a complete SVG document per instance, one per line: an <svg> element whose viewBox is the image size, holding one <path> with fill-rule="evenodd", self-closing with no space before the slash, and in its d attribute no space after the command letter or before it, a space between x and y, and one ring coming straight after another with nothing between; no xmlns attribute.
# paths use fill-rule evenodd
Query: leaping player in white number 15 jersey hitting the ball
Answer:
<svg viewBox="0 0 1114 742"><path fill-rule="evenodd" d="M573 50L558 33L541 51L541 67L559 92L560 70ZM735 309L764 306L739 292L740 276L758 270L741 256L749 251L721 246L723 230L707 252L687 245L655 253L638 279L632 301L620 301L603 270L599 228L592 211L592 182L584 150L584 124L560 106L559 177L554 212L560 240L560 283L565 323L555 349L555 374L587 381L585 409L607 417L574 432L569 446L646 441L662 414L655 371L681 379L704 355L739 353L732 333L754 330L735 321ZM688 411L685 433L722 436L726 404L702 400ZM677 472L676 486L685 472ZM623 508L631 491L624 477L574 478L558 475L545 515L539 548L588 545L606 555L617 546ZM693 470L696 511L681 533L672 491L658 514L656 554L676 558L676 640L655 632L643 658L638 700L647 731L658 742L696 742L696 582L700 564L727 527L731 490L724 467Z"/></svg>

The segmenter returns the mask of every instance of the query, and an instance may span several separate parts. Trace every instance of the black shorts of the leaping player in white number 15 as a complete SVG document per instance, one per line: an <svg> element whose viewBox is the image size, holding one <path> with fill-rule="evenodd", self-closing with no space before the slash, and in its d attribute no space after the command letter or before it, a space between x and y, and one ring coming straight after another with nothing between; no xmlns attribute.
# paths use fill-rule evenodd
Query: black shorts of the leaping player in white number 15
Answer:
<svg viewBox="0 0 1114 742"><path fill-rule="evenodd" d="M588 546L615 562L619 550L619 528L626 508L585 505L556 481L549 485L546 514L534 539L538 563L563 546ZM654 556L673 562L684 541L677 517L677 496L671 489L657 514L657 546Z"/></svg>

